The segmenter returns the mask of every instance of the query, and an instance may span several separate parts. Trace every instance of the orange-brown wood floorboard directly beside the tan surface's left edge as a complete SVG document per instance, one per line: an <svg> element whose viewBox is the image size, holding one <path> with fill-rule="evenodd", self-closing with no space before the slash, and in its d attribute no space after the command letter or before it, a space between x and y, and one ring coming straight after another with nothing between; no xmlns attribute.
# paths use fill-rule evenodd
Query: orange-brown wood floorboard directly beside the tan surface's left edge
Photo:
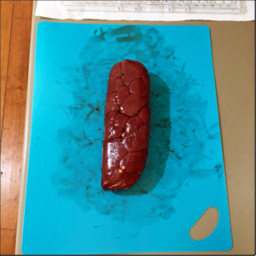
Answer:
<svg viewBox="0 0 256 256"><path fill-rule="evenodd" d="M14 1L1 149L1 254L14 254L26 116L32 1Z"/></svg>

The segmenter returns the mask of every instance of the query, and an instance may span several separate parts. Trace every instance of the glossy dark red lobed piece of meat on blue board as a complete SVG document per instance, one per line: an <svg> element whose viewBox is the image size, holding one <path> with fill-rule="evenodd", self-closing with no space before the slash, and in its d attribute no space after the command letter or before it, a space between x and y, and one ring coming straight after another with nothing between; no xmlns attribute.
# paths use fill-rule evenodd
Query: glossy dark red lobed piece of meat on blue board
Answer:
<svg viewBox="0 0 256 256"><path fill-rule="evenodd" d="M150 77L145 66L123 60L110 72L105 100L101 185L126 190L140 177L148 155Z"/></svg>

